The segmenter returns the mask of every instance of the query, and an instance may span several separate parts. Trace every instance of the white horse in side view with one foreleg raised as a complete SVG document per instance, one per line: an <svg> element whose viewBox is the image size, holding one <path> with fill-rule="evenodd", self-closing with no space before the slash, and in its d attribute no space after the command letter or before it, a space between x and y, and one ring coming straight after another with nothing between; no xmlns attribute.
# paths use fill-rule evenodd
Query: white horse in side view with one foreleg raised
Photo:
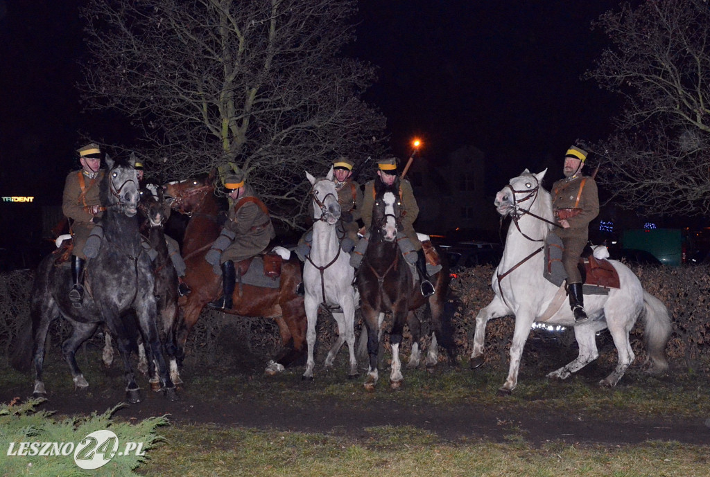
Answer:
<svg viewBox="0 0 710 477"><path fill-rule="evenodd" d="M667 370L665 346L671 332L668 311L660 300L644 291L638 277L626 265L609 261L618 273L620 288L611 288L608 295L585 296L586 313L590 318L586 322L575 326L572 311L564 303L566 300L562 305L559 305L559 298L554 300L558 287L542 276L545 260L542 245L554 226L552 197L540 186L545 172L547 169L531 174L525 169L496 194L496 210L503 216L510 215L513 222L508 228L503 258L493 274L496 296L476 315L471 369L484 363L486 322L491 318L515 315L510 369L506 382L498 390L501 394L510 394L518 383L520 355L530 327L536 321L574 326L574 336L579 344L577 359L552 371L548 378L567 378L594 361L599 356L595 335L608 328L618 352L618 364L599 384L616 386L634 359L628 334L639 316L645 322L647 361L650 360L652 371Z"/></svg>

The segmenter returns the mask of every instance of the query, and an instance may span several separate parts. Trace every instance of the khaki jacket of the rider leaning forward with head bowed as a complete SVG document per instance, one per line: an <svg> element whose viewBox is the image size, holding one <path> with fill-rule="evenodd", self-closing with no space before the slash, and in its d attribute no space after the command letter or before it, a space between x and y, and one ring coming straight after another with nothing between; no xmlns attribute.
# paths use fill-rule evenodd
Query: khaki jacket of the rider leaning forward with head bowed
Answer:
<svg viewBox="0 0 710 477"><path fill-rule="evenodd" d="M247 197L256 198L259 203L243 201ZM262 210L263 204L260 204L261 201L250 189L247 189L245 195L237 201L229 200L229 217L224 228L234 232L236 237L222 252L220 262L231 260L236 263L254 257L263 252L269 242L276 237L271 218L268 212Z"/></svg>

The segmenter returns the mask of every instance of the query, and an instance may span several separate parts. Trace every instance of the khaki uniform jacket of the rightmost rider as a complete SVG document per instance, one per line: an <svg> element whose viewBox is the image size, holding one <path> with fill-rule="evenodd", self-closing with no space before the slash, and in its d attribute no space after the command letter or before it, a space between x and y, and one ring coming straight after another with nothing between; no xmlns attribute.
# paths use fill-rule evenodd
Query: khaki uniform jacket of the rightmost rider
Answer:
<svg viewBox="0 0 710 477"><path fill-rule="evenodd" d="M580 194L579 188L582 181L584 181L584 186ZM563 208L581 209L578 215L567 218L569 228L555 227L555 233L562 238L574 237L586 241L589 238L589 223L599 215L599 195L594 179L589 176L560 179L552 185L552 193L554 194L552 208L555 211ZM579 202L577 202L577 196L579 196ZM559 220L557 221L559 222Z"/></svg>

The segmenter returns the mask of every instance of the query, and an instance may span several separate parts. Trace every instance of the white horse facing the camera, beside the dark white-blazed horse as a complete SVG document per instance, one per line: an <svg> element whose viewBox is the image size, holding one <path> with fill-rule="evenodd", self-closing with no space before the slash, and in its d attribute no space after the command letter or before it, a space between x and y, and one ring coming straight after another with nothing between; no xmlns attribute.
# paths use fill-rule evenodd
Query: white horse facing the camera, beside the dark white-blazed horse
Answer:
<svg viewBox="0 0 710 477"><path fill-rule="evenodd" d="M333 168L327 176L315 179L306 172L312 184L310 195L313 201L313 240L310 255L303 266L305 288L305 310L308 318L306 341L308 360L303 379L313 378L313 347L315 346L315 325L318 307L323 304L333 314L338 324L338 339L325 358L324 366L332 366L335 355L343 342L350 352L349 378L358 376L355 359L355 288L352 285L355 269L350 266L350 254L341 248L342 237L338 237L337 222L340 218L338 193L333 181Z"/></svg>

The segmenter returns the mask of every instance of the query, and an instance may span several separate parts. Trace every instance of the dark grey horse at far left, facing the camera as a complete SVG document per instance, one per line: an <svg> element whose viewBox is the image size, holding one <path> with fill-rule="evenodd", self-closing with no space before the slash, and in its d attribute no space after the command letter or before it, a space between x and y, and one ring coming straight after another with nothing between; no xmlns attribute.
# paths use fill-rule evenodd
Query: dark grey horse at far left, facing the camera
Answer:
<svg viewBox="0 0 710 477"><path fill-rule="evenodd" d="M131 368L130 353L136 350L136 336L146 346L148 369L157 372L160 388L170 399L176 399L175 385L163 358L157 325L154 296L153 264L143 247L138 230L138 177L133 169L135 159L128 162L106 159L100 195L106 211L102 218L104 237L96 257L88 259L85 268L84 298L80 306L72 305L67 291L72 274L67 264L58 265L58 254L45 257L38 266L32 293L31 317L34 338L35 397L46 397L42 379L45 341L50 322L62 316L72 325L72 334L62 344L62 354L70 367L75 386L89 384L77 366L78 347L94 335L100 324L116 338L124 359L126 397L130 403L141 400ZM157 366L157 371L155 367Z"/></svg>

